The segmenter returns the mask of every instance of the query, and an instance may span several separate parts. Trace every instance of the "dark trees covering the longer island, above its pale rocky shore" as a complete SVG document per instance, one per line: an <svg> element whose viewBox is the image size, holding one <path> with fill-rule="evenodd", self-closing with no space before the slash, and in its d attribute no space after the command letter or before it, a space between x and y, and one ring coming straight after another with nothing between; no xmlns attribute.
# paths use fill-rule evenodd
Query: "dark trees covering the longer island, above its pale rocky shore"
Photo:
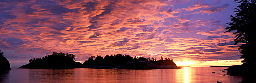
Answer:
<svg viewBox="0 0 256 83"><path fill-rule="evenodd" d="M155 58L145 58L145 57L131 57L130 55L106 55L102 57L101 55L98 56L91 56L83 63L83 66L88 65L95 65L95 66L122 66L128 62L139 62L139 61L146 61L151 62L157 65L173 65L176 64L173 62L173 59L161 57L160 60L156 60Z"/></svg>

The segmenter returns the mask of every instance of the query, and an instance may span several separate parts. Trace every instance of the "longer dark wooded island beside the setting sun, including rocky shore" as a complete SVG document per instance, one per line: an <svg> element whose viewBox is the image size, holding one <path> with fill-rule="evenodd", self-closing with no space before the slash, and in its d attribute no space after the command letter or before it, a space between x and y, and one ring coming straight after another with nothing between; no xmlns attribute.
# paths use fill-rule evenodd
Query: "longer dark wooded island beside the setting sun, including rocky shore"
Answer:
<svg viewBox="0 0 256 83"><path fill-rule="evenodd" d="M173 59L131 57L130 55L91 56L82 64L82 68L120 68L120 69L173 69L179 68Z"/></svg>

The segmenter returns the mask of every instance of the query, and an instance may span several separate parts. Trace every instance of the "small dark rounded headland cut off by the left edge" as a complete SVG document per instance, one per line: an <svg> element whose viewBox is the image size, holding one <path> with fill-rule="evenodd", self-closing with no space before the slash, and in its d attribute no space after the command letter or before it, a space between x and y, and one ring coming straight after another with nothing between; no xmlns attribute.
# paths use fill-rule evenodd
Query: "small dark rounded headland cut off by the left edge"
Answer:
<svg viewBox="0 0 256 83"><path fill-rule="evenodd" d="M11 70L9 61L3 56L4 52L0 52L0 71Z"/></svg>

